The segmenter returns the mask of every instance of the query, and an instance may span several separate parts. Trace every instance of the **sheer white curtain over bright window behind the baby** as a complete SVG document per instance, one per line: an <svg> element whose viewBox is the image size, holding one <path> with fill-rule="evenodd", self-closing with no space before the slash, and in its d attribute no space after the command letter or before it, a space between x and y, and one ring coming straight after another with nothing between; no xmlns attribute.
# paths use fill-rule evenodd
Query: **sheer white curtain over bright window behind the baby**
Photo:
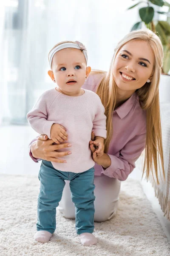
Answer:
<svg viewBox="0 0 170 256"><path fill-rule="evenodd" d="M108 70L118 41L138 20L131 0L4 0L0 4L0 120L24 124L37 97L54 87L48 52L81 41L88 64Z"/></svg>

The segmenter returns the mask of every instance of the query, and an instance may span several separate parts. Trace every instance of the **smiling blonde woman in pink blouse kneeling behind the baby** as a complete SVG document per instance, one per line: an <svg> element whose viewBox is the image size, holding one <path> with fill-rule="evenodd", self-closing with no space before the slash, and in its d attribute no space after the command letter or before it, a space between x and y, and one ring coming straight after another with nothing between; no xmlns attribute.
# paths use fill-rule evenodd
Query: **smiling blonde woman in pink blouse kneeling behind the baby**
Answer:
<svg viewBox="0 0 170 256"><path fill-rule="evenodd" d="M159 183L159 159L164 176L159 112L162 61L159 37L149 29L133 31L117 45L109 71L92 71L83 85L99 95L107 117L107 138L102 157L96 156L90 142L95 161L94 221L106 221L115 215L120 183L133 171L144 148L146 177L155 172ZM63 164L63 160L59 160L63 155L56 150L67 148L68 143L52 145L53 140L46 139L41 135L32 142L32 159ZM69 149L71 151L71 147ZM66 149L65 159L69 151ZM65 184L59 210L66 218L74 218L69 183Z"/></svg>

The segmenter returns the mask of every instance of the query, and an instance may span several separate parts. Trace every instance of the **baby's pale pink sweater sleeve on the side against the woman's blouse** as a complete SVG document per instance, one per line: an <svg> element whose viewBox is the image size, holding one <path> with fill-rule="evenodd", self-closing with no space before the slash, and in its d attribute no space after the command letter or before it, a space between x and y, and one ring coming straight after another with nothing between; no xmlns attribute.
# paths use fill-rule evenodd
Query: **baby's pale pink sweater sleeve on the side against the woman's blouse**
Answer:
<svg viewBox="0 0 170 256"><path fill-rule="evenodd" d="M95 136L103 137L106 139L107 131L106 131L106 116L105 116L105 108L102 105L101 99L97 94L96 101L94 101L94 108L96 108L95 117L93 120L93 130Z"/></svg>

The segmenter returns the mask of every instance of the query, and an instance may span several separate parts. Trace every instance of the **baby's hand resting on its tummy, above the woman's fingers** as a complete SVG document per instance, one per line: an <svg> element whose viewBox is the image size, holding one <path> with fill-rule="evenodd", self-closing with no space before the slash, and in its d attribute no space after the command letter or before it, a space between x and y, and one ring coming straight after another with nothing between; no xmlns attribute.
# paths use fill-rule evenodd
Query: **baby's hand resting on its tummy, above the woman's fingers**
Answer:
<svg viewBox="0 0 170 256"><path fill-rule="evenodd" d="M59 124L53 124L51 126L50 131L51 139L54 140L55 143L59 144L64 140L68 140L68 134L66 133L66 129Z"/></svg>

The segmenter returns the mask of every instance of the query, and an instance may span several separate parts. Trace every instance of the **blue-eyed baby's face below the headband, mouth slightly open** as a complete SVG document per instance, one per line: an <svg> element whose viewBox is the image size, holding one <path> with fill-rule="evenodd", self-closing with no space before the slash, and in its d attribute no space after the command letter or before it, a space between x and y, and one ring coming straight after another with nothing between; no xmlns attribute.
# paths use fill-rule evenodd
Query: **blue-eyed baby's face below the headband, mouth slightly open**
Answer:
<svg viewBox="0 0 170 256"><path fill-rule="evenodd" d="M64 93L78 92L85 82L85 56L79 49L62 49L53 57L52 71L58 87Z"/></svg>

